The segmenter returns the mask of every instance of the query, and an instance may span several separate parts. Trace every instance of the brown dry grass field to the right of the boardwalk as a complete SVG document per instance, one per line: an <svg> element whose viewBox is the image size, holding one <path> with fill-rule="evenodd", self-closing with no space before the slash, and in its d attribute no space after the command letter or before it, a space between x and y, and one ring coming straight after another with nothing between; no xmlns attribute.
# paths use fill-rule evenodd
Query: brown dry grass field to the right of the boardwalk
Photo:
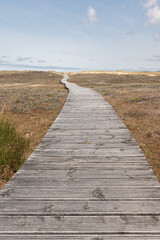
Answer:
<svg viewBox="0 0 160 240"><path fill-rule="evenodd" d="M160 73L81 73L70 81L101 93L122 118L160 180Z"/></svg>

